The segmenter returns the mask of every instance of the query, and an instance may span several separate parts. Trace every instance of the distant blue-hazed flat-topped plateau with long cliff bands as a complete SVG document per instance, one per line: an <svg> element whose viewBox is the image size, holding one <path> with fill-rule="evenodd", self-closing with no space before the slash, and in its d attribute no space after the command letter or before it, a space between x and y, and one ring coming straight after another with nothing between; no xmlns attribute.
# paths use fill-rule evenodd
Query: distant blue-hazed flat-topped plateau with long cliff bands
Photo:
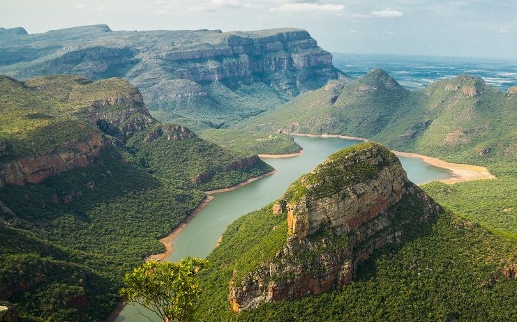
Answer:
<svg viewBox="0 0 517 322"><path fill-rule="evenodd" d="M0 74L123 77L160 121L219 128L346 79L302 29L0 32Z"/></svg>

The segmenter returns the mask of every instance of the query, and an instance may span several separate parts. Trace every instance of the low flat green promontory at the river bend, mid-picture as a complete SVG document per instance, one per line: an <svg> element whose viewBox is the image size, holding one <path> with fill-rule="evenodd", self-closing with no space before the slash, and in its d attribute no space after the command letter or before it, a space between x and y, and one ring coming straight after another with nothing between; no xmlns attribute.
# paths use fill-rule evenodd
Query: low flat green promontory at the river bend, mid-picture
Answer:
<svg viewBox="0 0 517 322"><path fill-rule="evenodd" d="M259 132L232 129L209 129L200 132L203 139L223 148L251 154L290 154L301 151L290 135L282 133L263 134Z"/></svg>

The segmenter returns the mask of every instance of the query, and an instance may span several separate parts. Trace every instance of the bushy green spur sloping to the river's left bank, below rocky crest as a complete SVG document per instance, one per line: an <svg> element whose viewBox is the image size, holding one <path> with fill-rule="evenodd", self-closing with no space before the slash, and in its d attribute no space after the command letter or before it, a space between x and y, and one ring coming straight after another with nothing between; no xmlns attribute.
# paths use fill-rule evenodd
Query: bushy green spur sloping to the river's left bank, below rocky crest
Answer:
<svg viewBox="0 0 517 322"><path fill-rule="evenodd" d="M163 135L145 143L144 137L160 126L131 137L126 143L126 159L178 187L216 190L273 170L260 159L248 164L250 155L230 152L195 136L168 140Z"/></svg>

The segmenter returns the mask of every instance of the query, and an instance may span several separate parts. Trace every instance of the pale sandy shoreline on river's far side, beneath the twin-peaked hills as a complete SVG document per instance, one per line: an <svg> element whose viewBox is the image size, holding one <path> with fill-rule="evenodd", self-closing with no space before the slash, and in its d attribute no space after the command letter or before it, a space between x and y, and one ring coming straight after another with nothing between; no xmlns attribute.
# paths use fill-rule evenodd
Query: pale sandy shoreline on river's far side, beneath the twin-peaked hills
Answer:
<svg viewBox="0 0 517 322"><path fill-rule="evenodd" d="M291 133L291 135L299 136L299 137L337 137L338 139L353 139L367 142L368 139L364 137L349 137L347 135L310 135L310 134L299 134L299 133ZM477 165L471 164L460 164L460 163L451 163L446 162L444 160L440 160L438 158L428 157L427 155L421 155L417 153L408 153L408 152L400 152L391 150L391 152L395 153L395 155L401 157L408 158L419 158L422 161L434 165L435 167L439 167L442 169L447 169L452 172L452 177L447 179L442 179L440 182L442 183L457 183L462 181L474 181L474 180L482 180L482 179L493 179L495 176L490 174L490 171L486 169L486 167L480 167Z"/></svg>

